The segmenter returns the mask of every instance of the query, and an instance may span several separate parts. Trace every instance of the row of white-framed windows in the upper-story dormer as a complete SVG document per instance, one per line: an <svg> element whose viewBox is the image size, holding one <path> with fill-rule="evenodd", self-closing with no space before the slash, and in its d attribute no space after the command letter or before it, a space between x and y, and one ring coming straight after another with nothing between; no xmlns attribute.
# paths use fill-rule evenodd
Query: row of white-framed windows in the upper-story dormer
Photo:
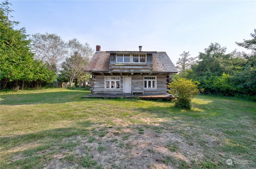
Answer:
<svg viewBox="0 0 256 169"><path fill-rule="evenodd" d="M146 54L116 54L116 63L146 63Z"/></svg>

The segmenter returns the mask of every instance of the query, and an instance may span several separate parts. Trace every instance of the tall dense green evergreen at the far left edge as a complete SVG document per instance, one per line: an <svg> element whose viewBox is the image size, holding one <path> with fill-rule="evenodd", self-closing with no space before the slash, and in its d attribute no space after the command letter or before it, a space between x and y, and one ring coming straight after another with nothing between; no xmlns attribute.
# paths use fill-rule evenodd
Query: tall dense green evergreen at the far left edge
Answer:
<svg viewBox="0 0 256 169"><path fill-rule="evenodd" d="M22 82L21 89L24 89L26 81L35 80L35 69L40 67L41 63L34 61L25 28L14 29L18 22L9 19L12 12L10 5L5 1L0 10L0 80L4 82L1 88L6 88L8 82L15 81L16 88L19 88L19 82Z"/></svg>

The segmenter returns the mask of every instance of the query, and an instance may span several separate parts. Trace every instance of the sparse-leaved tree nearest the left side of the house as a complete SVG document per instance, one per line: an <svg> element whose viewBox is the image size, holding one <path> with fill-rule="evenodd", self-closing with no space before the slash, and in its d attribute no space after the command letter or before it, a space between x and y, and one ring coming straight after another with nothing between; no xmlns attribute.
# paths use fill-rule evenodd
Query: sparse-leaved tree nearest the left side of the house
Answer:
<svg viewBox="0 0 256 169"><path fill-rule="evenodd" d="M89 62L93 50L88 43L82 45L77 39L68 42L68 50L70 57L67 57L62 63L62 71L60 77L66 77L71 83L76 80L78 83L85 81L84 67Z"/></svg>

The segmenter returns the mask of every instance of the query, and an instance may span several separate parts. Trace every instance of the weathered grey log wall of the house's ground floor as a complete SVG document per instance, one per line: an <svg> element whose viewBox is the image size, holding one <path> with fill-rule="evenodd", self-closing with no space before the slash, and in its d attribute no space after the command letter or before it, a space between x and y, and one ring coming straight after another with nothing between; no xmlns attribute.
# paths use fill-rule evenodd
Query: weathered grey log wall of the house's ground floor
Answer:
<svg viewBox="0 0 256 169"><path fill-rule="evenodd" d="M113 75L120 78L120 89L105 89L105 76L104 75L94 75L94 82L90 84L90 87L94 93L111 93L111 94L122 94L123 93L123 77L127 75ZM128 75L130 77L130 75ZM157 76L157 75L150 75ZM144 76L143 75L132 75L132 86L144 86ZM167 92L167 81L166 75L158 75L157 76L157 88L156 89L144 89L144 95L156 95L156 94L164 94Z"/></svg>

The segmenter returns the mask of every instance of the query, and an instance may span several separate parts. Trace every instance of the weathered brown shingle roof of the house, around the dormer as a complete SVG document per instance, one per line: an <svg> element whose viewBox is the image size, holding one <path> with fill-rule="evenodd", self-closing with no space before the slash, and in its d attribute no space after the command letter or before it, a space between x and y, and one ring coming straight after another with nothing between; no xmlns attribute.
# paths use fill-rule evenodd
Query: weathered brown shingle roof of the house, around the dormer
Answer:
<svg viewBox="0 0 256 169"><path fill-rule="evenodd" d="M108 72L110 71L111 53L150 54L152 55L153 73L178 73L178 70L170 60L166 52L156 51L96 51L84 68L86 72Z"/></svg>

